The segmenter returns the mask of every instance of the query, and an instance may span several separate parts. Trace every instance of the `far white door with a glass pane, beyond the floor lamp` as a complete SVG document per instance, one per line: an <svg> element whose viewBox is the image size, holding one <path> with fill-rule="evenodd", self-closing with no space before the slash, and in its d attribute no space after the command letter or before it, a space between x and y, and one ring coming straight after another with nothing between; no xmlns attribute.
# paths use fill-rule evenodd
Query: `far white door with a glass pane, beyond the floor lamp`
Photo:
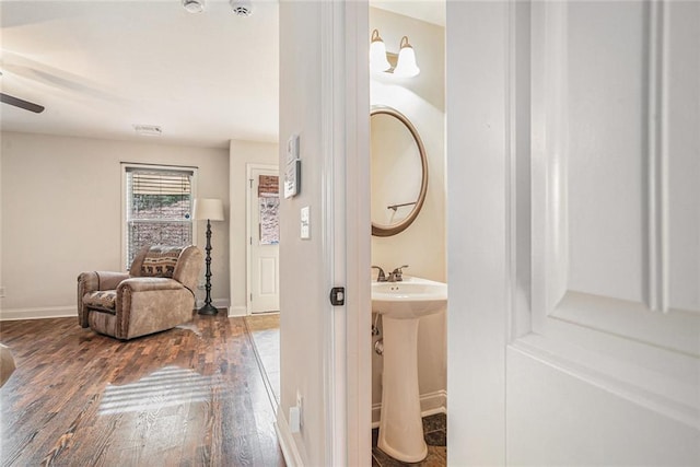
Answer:
<svg viewBox="0 0 700 467"><path fill-rule="evenodd" d="M278 312L279 171L248 166L248 313Z"/></svg>

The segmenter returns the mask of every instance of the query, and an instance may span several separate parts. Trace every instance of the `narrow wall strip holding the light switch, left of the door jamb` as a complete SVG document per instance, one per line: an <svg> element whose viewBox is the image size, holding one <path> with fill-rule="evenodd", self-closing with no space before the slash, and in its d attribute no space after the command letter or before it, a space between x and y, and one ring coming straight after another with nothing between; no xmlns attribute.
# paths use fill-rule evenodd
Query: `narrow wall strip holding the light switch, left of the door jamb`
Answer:
<svg viewBox="0 0 700 467"><path fill-rule="evenodd" d="M280 380L278 423L287 423L296 393L304 398L303 428L293 435L301 462L326 464L324 342L328 290L324 271L320 2L280 2L280 163L287 140L300 137L299 196L280 199ZM300 209L311 208L311 240L300 238Z"/></svg>

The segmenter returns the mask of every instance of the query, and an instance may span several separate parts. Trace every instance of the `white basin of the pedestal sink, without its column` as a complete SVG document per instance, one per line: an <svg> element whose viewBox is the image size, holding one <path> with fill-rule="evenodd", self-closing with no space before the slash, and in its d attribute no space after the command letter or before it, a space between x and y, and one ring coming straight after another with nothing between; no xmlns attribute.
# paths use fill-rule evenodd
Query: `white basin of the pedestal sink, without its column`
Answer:
<svg viewBox="0 0 700 467"><path fill-rule="evenodd" d="M372 311L395 319L433 315L447 303L447 284L406 277L401 282L372 282Z"/></svg>

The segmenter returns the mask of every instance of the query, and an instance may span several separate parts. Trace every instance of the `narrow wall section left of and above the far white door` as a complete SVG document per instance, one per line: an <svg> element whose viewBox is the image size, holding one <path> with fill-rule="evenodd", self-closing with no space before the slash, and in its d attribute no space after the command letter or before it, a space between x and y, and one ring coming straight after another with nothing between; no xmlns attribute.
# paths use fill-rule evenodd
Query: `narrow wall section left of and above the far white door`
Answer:
<svg viewBox="0 0 700 467"><path fill-rule="evenodd" d="M278 144L232 140L230 153L231 315L246 314L246 164L278 164Z"/></svg>

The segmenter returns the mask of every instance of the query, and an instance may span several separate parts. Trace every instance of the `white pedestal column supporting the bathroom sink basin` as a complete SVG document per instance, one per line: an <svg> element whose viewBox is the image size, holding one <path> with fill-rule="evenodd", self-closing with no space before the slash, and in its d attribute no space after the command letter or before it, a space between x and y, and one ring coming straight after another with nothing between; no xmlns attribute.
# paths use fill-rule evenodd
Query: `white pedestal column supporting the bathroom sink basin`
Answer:
<svg viewBox="0 0 700 467"><path fill-rule="evenodd" d="M384 376L377 445L405 463L428 455L418 390L418 323L419 318L382 317Z"/></svg>

